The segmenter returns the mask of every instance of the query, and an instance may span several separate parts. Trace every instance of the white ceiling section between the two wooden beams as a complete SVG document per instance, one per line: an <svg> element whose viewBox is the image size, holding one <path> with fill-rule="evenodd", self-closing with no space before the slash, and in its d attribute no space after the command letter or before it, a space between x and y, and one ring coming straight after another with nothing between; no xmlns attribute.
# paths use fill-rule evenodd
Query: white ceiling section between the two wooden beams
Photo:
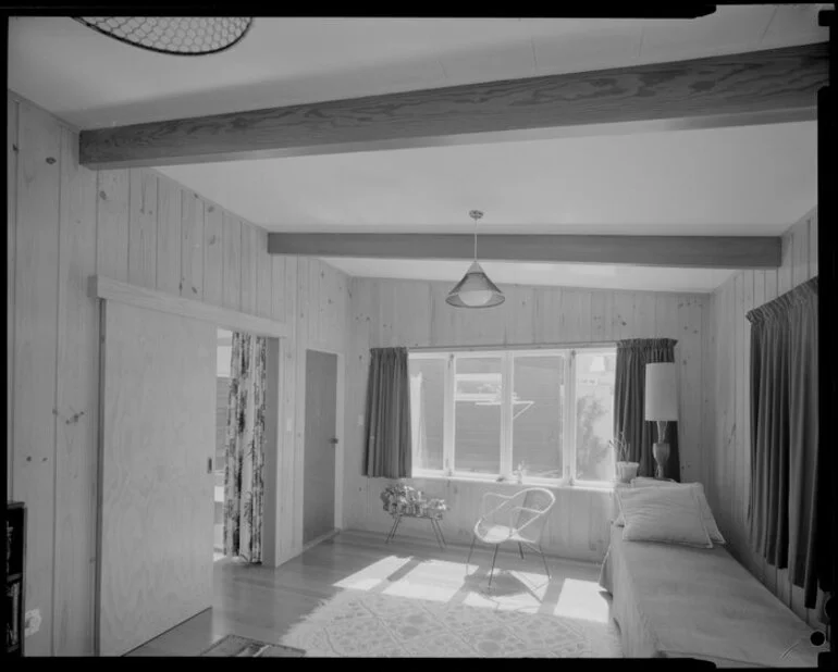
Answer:
<svg viewBox="0 0 838 672"><path fill-rule="evenodd" d="M271 231L774 235L816 201L816 124L160 169Z"/></svg>

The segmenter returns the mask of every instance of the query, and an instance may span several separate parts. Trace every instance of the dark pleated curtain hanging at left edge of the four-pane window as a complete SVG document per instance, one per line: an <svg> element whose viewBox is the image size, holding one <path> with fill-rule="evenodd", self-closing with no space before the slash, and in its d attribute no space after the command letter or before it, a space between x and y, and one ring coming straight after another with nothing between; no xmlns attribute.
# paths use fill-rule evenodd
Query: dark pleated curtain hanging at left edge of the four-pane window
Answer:
<svg viewBox="0 0 838 672"><path fill-rule="evenodd" d="M372 348L367 385L363 473L410 476L410 376L407 348Z"/></svg>

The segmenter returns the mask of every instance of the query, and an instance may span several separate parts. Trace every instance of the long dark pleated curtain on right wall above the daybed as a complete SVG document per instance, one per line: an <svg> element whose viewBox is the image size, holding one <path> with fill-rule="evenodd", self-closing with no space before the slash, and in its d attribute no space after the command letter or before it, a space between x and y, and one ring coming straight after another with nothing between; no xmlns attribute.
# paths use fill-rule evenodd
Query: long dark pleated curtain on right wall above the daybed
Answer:
<svg viewBox="0 0 838 672"><path fill-rule="evenodd" d="M817 278L748 313L751 322L751 546L817 597Z"/></svg>

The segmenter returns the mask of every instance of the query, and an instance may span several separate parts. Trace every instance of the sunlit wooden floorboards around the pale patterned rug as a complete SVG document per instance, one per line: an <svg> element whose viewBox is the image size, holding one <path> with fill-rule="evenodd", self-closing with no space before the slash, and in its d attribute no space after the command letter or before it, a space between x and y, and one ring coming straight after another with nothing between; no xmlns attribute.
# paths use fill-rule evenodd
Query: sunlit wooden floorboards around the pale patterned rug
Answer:
<svg viewBox="0 0 838 672"><path fill-rule="evenodd" d="M497 555L492 588L486 587L491 564L489 547L478 546L466 572L468 548L440 549L421 540L384 543L373 533L343 532L281 568L248 565L235 560L215 563L214 602L198 615L135 649L131 656L198 656L224 635L236 634L279 643L285 632L313 611L322 600L343 590L381 588L408 583L417 599L427 592L434 599L463 593L503 602L539 605L540 612L584 612L607 620L609 599L596 585L596 564L547 558L546 581L541 558L517 548ZM476 570L477 567L477 570ZM409 575L409 578L407 578ZM571 580L571 581L568 581Z"/></svg>

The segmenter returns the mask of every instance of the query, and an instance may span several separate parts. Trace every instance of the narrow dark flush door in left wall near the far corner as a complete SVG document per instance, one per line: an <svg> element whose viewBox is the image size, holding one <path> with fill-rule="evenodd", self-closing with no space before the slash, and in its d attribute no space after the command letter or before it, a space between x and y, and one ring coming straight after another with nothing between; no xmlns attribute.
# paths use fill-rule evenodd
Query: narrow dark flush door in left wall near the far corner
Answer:
<svg viewBox="0 0 838 672"><path fill-rule="evenodd" d="M334 530L337 356L306 351L303 543Z"/></svg>

